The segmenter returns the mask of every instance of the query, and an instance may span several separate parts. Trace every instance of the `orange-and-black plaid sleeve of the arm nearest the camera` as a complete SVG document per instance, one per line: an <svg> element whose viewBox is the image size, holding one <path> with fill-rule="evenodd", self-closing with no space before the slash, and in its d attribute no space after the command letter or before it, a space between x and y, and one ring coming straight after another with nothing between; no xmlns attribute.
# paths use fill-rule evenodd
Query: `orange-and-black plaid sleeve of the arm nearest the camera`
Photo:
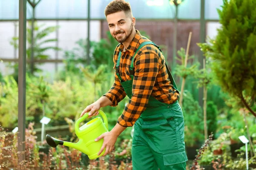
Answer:
<svg viewBox="0 0 256 170"><path fill-rule="evenodd" d="M134 62L134 69L132 97L117 121L124 127L133 126L141 113L145 111L160 69L157 54L148 50L139 51Z"/></svg>

